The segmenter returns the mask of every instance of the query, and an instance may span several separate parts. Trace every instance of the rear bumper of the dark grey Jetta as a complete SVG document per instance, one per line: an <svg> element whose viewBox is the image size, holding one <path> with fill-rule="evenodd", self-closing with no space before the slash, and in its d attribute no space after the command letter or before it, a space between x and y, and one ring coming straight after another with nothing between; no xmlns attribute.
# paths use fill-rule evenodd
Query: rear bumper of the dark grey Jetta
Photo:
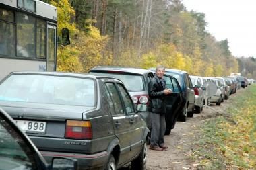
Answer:
<svg viewBox="0 0 256 170"><path fill-rule="evenodd" d="M40 151L44 159L51 163L53 157L67 157L77 159L78 167L80 169L104 169L104 165L108 161L108 152L103 151L95 154L81 154L81 153L59 153L50 151Z"/></svg>

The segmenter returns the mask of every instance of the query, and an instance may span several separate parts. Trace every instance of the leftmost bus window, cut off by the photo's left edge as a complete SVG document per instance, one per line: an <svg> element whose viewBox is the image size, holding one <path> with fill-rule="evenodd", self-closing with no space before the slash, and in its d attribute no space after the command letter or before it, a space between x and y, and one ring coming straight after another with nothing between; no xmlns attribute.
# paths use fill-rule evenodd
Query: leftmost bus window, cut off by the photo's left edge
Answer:
<svg viewBox="0 0 256 170"><path fill-rule="evenodd" d="M0 8L0 55L15 56L14 13Z"/></svg>

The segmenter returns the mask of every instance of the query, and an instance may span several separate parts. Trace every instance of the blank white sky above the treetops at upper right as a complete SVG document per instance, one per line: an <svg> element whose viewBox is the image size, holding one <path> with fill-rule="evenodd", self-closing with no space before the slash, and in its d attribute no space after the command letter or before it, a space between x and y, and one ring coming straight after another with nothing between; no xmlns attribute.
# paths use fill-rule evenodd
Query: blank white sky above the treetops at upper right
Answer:
<svg viewBox="0 0 256 170"><path fill-rule="evenodd" d="M256 56L255 0L183 0L188 11L205 13L207 32L228 39L233 56Z"/></svg>

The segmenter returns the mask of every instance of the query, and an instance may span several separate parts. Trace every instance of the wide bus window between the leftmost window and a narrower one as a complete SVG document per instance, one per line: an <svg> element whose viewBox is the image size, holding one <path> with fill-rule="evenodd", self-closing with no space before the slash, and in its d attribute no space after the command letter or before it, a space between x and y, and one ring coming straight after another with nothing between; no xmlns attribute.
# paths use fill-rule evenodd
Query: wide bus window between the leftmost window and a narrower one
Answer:
<svg viewBox="0 0 256 170"><path fill-rule="evenodd" d="M36 19L24 13L17 13L17 56L36 56Z"/></svg>

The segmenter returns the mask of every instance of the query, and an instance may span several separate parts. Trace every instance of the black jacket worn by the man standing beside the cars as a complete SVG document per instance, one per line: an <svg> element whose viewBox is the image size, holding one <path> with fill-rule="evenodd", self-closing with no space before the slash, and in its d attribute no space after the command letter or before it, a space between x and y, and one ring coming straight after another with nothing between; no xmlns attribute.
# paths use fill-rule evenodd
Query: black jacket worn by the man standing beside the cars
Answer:
<svg viewBox="0 0 256 170"><path fill-rule="evenodd" d="M160 80L155 76L150 83L148 83L148 94L150 95L150 105L148 110L156 114L166 113L166 101L164 99L164 89L166 89L166 83L164 81L163 87L161 81L164 81L164 79Z"/></svg>

